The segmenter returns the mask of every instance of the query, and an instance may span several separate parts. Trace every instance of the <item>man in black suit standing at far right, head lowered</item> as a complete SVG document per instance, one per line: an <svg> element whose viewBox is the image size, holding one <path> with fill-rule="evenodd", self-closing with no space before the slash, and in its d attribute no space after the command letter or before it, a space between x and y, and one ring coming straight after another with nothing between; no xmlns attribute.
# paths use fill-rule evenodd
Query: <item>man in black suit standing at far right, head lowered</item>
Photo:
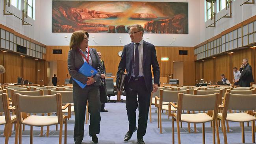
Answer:
<svg viewBox="0 0 256 144"><path fill-rule="evenodd" d="M239 78L240 87L250 87L250 83L253 82L252 66L249 65L248 59L243 59L243 63L240 67L241 76Z"/></svg>

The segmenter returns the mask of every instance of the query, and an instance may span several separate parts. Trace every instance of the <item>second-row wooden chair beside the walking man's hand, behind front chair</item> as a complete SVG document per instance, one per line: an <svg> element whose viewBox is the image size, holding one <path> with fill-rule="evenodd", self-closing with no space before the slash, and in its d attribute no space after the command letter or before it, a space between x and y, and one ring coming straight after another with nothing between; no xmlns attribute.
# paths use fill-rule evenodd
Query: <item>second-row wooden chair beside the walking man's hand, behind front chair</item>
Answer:
<svg viewBox="0 0 256 144"><path fill-rule="evenodd" d="M162 89L162 90L160 90L160 98L158 98L158 96L155 97L155 100L159 100L159 104L157 104L157 105L158 105L158 128L160 127L160 133L162 133L162 115L161 115L161 111L162 110L173 111L173 112L177 111L177 109L174 109L174 107L171 107L171 109L169 109L168 103L169 102L176 103L179 93L188 94L189 90L171 91L171 90ZM164 105L163 102L166 102L167 105Z"/></svg>

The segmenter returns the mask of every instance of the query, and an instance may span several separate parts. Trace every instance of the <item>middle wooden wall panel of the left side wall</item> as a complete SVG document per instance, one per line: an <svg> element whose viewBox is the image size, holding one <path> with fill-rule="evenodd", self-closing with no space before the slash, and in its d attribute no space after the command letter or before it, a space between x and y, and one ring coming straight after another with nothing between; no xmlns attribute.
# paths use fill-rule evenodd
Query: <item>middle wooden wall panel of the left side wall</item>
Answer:
<svg viewBox="0 0 256 144"><path fill-rule="evenodd" d="M36 60L30 57L24 57L23 63L23 79L28 79L32 83L36 83Z"/></svg>

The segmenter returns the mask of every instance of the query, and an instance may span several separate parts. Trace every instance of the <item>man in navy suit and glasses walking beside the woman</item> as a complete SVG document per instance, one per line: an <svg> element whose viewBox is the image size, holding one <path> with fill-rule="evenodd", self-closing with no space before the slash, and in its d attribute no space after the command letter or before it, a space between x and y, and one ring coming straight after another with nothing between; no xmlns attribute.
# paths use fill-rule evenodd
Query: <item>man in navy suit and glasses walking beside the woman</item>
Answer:
<svg viewBox="0 0 256 144"><path fill-rule="evenodd" d="M146 134L148 110L150 105L150 94L158 89L160 79L160 68L156 59L156 49L153 44L143 41L144 29L141 25L135 24L130 27L131 43L124 46L121 61L118 66L117 83L119 83L120 71L125 70L126 110L129 120L129 131L124 141L130 140L132 134L137 130L136 109L139 100L139 120L137 141L145 144L143 136ZM152 73L154 74L154 85L152 86Z"/></svg>

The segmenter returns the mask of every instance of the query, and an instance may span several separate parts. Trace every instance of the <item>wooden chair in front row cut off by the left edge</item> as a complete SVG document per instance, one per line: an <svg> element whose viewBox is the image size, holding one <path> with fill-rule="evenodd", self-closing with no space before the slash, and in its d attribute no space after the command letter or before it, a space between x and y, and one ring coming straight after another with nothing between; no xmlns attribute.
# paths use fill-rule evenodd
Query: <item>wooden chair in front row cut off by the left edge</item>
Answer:
<svg viewBox="0 0 256 144"><path fill-rule="evenodd" d="M0 116L0 125L5 125L4 127L4 136L5 138L5 144L8 144L9 136L11 134L11 128L12 124L17 122L16 115L11 116L10 111L13 110L15 107L9 107L9 100L8 100L8 94L0 94L0 112L4 113L4 116Z"/></svg>

